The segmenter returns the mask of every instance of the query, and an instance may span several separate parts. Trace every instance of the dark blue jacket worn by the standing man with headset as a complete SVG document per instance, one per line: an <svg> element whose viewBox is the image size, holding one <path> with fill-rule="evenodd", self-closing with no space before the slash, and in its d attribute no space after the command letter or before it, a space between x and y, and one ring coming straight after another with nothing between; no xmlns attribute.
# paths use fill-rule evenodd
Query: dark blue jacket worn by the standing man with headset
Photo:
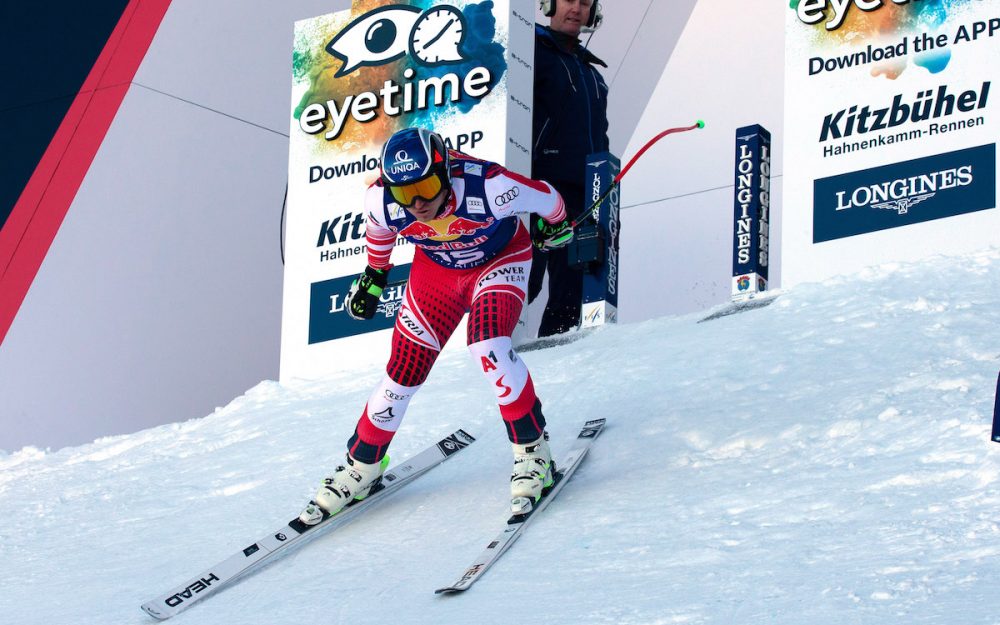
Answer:
<svg viewBox="0 0 1000 625"><path fill-rule="evenodd" d="M608 150L608 85L583 46L559 47L567 35L535 25L535 104L531 177L583 185L587 155ZM569 198L566 198L569 200Z"/></svg>

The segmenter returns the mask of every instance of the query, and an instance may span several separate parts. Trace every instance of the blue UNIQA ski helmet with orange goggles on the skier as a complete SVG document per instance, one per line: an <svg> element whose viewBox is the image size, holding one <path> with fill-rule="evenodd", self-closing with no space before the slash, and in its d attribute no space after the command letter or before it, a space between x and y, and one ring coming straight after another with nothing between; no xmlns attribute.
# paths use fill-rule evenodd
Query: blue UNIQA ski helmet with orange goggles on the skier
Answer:
<svg viewBox="0 0 1000 625"><path fill-rule="evenodd" d="M404 128L382 148L382 183L402 206L416 198L431 200L451 188L448 148L441 135L424 128Z"/></svg>

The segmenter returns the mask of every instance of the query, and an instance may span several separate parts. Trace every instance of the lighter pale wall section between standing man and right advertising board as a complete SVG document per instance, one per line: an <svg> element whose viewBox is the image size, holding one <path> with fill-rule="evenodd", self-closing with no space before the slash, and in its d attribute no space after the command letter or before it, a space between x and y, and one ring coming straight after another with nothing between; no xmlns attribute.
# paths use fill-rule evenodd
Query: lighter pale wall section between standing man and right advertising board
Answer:
<svg viewBox="0 0 1000 625"><path fill-rule="evenodd" d="M622 162L661 130L706 127L665 137L622 180L622 321L728 301L735 134L749 124L772 135L770 284L779 283L784 10L702 1L691 14Z"/></svg>

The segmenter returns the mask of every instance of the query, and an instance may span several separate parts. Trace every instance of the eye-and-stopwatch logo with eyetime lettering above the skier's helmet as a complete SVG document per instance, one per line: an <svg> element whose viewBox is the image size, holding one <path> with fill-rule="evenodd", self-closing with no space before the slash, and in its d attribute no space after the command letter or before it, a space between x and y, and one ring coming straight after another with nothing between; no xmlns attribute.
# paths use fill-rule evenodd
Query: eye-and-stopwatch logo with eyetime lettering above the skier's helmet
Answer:
<svg viewBox="0 0 1000 625"><path fill-rule="evenodd" d="M334 78L360 67L385 65L408 54L420 66L461 63L467 60L461 47L468 33L465 16L457 8L439 4L427 10L406 4L391 4L368 11L353 20L327 45L326 51L343 61ZM333 141L344 131L348 114L359 123L375 120L379 109L395 117L443 106L466 97L482 99L492 91L493 75L479 66L464 77L454 72L416 79L412 67L403 70L403 81L386 80L381 89L351 94L336 100L315 102L299 115L299 128L310 135ZM445 96L445 88L448 96Z"/></svg>

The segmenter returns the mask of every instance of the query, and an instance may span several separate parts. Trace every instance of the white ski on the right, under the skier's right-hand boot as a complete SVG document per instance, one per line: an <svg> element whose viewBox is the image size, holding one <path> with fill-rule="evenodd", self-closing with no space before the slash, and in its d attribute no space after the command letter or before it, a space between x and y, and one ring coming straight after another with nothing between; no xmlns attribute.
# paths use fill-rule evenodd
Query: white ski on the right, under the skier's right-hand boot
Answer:
<svg viewBox="0 0 1000 625"><path fill-rule="evenodd" d="M549 489L549 491L542 496L541 500L536 503L528 512L524 514L515 514L507 519L504 529L497 534L485 550L479 555L479 558L462 573L461 577L458 578L451 586L445 586L444 588L438 588L434 591L435 594L452 594L463 592L468 590L476 581L483 576L483 573L489 569L494 562L496 562L507 549L510 548L514 541L517 540L524 529L528 526L528 523L535 517L536 514L545 509L549 505L555 496L559 494L562 487L566 485L569 478L572 477L573 472L576 471L577 467L580 466L580 462L583 457L587 455L590 451L591 443L594 439L600 435L601 431L604 430L605 419L596 419L594 421L587 421L583 428L580 429L580 434L576 438L576 442L570 448L569 453L563 460L563 464L557 465L556 474L554 478L554 484Z"/></svg>

